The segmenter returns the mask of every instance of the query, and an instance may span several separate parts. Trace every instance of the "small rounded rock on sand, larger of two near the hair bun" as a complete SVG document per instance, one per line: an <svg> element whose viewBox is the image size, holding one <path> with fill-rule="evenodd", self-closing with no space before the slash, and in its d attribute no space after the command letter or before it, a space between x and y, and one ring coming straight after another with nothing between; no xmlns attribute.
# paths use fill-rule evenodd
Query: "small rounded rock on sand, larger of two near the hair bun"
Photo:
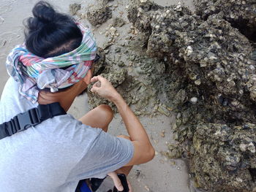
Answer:
<svg viewBox="0 0 256 192"><path fill-rule="evenodd" d="M105 21L110 18L112 18L111 9L102 1L89 7L87 11L87 20L89 20L93 26L105 23Z"/></svg>

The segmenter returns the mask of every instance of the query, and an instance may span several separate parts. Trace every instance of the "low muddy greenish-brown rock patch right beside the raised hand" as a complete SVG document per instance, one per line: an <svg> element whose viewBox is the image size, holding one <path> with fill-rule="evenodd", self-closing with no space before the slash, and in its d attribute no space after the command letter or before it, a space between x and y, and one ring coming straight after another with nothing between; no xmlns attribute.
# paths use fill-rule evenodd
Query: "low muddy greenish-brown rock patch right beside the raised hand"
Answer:
<svg viewBox="0 0 256 192"><path fill-rule="evenodd" d="M135 55L132 51L125 51L127 64L120 59L105 59L102 48L98 49L101 59L95 64L94 75L101 74L110 80L118 93L124 97L127 104L135 104L137 115L151 115L154 111L161 111L168 114L165 106L158 106L157 93L159 91L157 82L161 81L162 74L165 72L165 64L159 62L157 58L148 58L143 55ZM118 54L116 54L118 55ZM157 64L157 65L152 65ZM154 72L154 75L150 75ZM90 87L89 87L90 88ZM99 104L109 104L116 110L113 103L100 98L89 91L89 104L92 108Z"/></svg>

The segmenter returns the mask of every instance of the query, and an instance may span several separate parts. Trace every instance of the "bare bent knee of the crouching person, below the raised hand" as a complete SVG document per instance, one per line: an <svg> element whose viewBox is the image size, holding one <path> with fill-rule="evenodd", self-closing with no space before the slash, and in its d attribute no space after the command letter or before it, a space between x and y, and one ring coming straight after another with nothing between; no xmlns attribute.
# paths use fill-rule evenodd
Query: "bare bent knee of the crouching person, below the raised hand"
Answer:
<svg viewBox="0 0 256 192"><path fill-rule="evenodd" d="M103 131L108 131L108 125L113 119L113 111L107 104L101 104L98 107L83 115L79 120L86 126L94 128L102 128Z"/></svg>

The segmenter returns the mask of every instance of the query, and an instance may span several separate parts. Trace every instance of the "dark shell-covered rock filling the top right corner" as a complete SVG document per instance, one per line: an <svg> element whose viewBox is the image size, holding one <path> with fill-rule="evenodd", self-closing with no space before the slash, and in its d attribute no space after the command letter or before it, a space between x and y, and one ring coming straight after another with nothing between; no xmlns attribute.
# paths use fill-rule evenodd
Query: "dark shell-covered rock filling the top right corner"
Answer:
<svg viewBox="0 0 256 192"><path fill-rule="evenodd" d="M255 0L194 0L194 2L197 15L204 20L210 15L220 14L246 37L256 41Z"/></svg>

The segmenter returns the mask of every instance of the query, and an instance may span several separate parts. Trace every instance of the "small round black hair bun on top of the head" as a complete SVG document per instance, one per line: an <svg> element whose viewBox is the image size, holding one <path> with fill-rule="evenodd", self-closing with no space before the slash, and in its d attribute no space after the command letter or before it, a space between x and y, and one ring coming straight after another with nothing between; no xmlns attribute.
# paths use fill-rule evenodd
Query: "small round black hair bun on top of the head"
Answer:
<svg viewBox="0 0 256 192"><path fill-rule="evenodd" d="M45 1L39 1L32 10L34 18L42 23L50 23L53 21L56 12L53 7Z"/></svg>

